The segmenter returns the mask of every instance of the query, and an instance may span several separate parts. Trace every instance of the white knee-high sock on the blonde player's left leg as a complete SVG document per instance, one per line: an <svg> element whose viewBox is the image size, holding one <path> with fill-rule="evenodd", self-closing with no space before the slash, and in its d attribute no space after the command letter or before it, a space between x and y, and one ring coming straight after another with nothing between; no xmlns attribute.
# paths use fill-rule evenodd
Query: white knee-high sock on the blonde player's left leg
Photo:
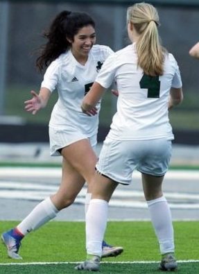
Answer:
<svg viewBox="0 0 199 274"><path fill-rule="evenodd" d="M102 255L102 241L107 225L108 203L101 199L92 199L86 215L87 254Z"/></svg>

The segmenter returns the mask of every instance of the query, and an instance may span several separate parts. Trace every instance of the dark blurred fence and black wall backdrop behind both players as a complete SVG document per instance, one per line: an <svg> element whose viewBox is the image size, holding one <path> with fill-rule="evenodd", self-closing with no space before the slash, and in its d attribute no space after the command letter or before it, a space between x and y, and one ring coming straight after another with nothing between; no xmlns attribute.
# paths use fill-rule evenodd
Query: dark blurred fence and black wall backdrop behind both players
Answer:
<svg viewBox="0 0 199 274"><path fill-rule="evenodd" d="M128 44L126 9L139 1L1 1L0 0L0 142L48 142L48 123L57 94L37 115L25 112L30 91L39 91L42 74L35 68L35 51L46 41L42 32L62 10L85 11L96 22L97 44L114 51ZM199 145L199 60L189 49L199 41L198 0L156 0L162 44L173 53L182 73L184 102L170 112L176 144ZM98 140L103 141L116 98L103 99Z"/></svg>

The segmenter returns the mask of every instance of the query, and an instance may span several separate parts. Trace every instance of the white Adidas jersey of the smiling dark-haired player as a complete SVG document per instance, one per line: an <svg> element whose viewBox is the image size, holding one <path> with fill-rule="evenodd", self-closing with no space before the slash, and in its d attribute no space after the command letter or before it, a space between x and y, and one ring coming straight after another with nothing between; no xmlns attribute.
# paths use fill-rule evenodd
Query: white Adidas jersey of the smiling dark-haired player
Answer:
<svg viewBox="0 0 199 274"><path fill-rule="evenodd" d="M46 69L41 87L58 90L58 101L51 113L49 126L58 130L80 130L86 137L97 134L98 115L89 117L80 108L83 97L94 83L105 59L113 51L108 46L94 45L85 65L73 57L71 51L61 54ZM98 112L100 103L97 105Z"/></svg>

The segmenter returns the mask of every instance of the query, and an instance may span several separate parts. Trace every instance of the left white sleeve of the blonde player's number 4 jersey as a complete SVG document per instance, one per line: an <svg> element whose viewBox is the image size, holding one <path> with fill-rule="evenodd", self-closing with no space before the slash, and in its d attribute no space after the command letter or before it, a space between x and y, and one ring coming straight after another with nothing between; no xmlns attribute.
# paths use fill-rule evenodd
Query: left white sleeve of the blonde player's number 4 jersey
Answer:
<svg viewBox="0 0 199 274"><path fill-rule="evenodd" d="M101 71L98 73L98 76L95 80L98 84L100 84L102 87L105 87L106 89L110 87L110 85L112 85L112 83L114 82L114 76L116 72L114 60L114 54L110 55L105 60L101 68Z"/></svg>

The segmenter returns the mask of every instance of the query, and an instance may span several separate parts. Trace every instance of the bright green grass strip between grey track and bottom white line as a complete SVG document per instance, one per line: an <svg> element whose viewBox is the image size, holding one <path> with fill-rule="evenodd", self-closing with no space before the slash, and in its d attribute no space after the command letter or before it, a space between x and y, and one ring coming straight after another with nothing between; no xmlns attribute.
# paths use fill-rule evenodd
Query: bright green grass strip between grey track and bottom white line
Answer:
<svg viewBox="0 0 199 274"><path fill-rule="evenodd" d="M17 225L1 221L1 233ZM175 247L178 260L199 259L199 221L175 221ZM121 256L103 262L159 261L159 246L153 227L148 221L110 221L105 239L115 246L123 246ZM22 241L20 255L25 262L80 262L85 259L85 223L51 221ZM0 263L11 263L1 245ZM1 273L1 272L0 272ZM198 268L199 273L199 268Z"/></svg>

